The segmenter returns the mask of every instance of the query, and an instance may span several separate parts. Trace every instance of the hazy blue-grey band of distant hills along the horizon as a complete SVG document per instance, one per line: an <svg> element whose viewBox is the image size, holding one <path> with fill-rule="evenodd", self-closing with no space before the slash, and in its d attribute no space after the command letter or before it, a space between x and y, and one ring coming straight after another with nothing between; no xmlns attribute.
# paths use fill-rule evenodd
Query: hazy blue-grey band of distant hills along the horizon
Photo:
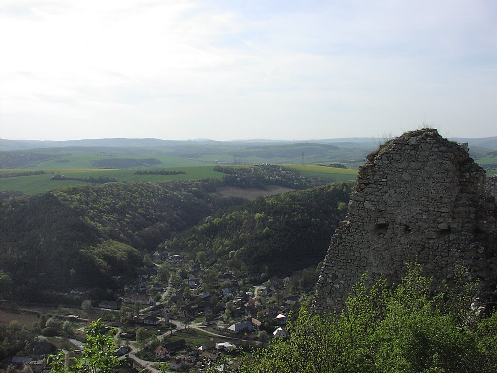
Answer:
<svg viewBox="0 0 497 373"><path fill-rule="evenodd" d="M497 137L453 138L457 142L468 142L473 158L483 158L497 150ZM81 154L92 158L94 166L86 162L86 168L98 167L95 157L112 156L132 159L129 167L140 167L138 158L171 157L175 165L185 161L201 164L326 164L339 163L347 168L357 169L367 154L384 142L380 138L339 138L307 141L284 140L236 140L213 141L161 140L161 139L86 139L68 141L31 141L0 139L0 169L33 167L50 159L65 159L67 154ZM33 155L33 153L36 153ZM38 159L39 162L34 162ZM114 162L114 168L121 168L121 161ZM75 162L83 164L84 162ZM132 166L135 164L136 166ZM165 166L168 162L163 162ZM69 166L69 165L68 165ZM42 167L43 166L42 164ZM105 166L107 167L107 166ZM128 167L128 166L126 166ZM126 168L124 167L124 168ZM50 168L48 168L50 169Z"/></svg>

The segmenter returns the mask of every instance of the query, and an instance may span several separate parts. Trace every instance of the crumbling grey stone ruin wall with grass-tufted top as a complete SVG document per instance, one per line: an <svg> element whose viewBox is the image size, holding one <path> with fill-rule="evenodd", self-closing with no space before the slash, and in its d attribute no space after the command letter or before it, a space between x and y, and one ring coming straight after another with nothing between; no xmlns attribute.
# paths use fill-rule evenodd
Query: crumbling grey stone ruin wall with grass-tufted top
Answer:
<svg viewBox="0 0 497 373"><path fill-rule="evenodd" d="M467 147L435 129L408 132L367 157L346 220L331 239L314 301L316 312L340 310L368 271L399 280L406 263L436 281L460 265L482 288L497 278L497 178Z"/></svg>

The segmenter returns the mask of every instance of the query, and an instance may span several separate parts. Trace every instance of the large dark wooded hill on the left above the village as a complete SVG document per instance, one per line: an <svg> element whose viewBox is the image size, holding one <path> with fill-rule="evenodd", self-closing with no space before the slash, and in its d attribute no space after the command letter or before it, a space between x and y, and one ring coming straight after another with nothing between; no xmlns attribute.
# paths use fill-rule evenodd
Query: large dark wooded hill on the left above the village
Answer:
<svg viewBox="0 0 497 373"><path fill-rule="evenodd" d="M112 276L131 276L143 263L136 248L155 248L223 203L190 182L78 186L11 199L0 205L0 271L16 294L112 287Z"/></svg>

